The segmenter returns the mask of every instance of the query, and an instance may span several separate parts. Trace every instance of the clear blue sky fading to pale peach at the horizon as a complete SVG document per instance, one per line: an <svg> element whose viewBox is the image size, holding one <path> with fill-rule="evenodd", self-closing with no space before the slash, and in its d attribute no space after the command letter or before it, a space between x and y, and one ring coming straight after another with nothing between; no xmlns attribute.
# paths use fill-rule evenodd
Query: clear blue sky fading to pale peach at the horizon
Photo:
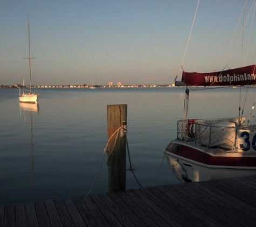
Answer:
<svg viewBox="0 0 256 227"><path fill-rule="evenodd" d="M172 84L181 66L240 67L248 38L233 41L236 52L229 46L244 1L200 0L184 58L198 0L0 0L0 84L27 78L27 15L34 85ZM221 61L227 50L232 61ZM246 65L254 63L250 52Z"/></svg>

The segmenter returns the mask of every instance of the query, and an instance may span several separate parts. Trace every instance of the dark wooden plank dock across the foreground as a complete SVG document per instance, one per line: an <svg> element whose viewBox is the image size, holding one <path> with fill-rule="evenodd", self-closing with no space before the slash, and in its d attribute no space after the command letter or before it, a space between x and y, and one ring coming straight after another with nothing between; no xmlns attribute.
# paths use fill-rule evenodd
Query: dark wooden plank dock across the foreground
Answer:
<svg viewBox="0 0 256 227"><path fill-rule="evenodd" d="M2 205L0 226L256 226L256 176Z"/></svg>

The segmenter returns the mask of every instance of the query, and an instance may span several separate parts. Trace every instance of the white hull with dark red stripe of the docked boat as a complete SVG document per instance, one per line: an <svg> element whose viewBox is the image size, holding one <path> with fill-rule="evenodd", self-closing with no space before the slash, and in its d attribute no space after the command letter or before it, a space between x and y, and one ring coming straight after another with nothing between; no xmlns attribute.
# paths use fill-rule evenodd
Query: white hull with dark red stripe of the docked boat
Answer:
<svg viewBox="0 0 256 227"><path fill-rule="evenodd" d="M236 178L256 174L256 157L206 153L185 142L172 141L165 148L172 171L180 182Z"/></svg>

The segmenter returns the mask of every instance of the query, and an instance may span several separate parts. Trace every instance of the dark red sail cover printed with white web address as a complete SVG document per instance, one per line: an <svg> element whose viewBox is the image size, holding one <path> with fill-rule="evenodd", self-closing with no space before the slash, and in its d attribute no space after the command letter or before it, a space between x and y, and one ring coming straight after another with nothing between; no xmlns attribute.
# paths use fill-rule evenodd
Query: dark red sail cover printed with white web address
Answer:
<svg viewBox="0 0 256 227"><path fill-rule="evenodd" d="M191 86L243 86L256 84L256 65L213 73L182 73L182 81Z"/></svg>

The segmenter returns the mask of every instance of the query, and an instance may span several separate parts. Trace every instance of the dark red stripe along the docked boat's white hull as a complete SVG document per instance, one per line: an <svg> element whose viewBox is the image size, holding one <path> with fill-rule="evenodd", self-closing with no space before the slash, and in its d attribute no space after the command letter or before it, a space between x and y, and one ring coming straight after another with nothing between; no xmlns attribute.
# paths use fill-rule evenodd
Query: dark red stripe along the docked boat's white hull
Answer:
<svg viewBox="0 0 256 227"><path fill-rule="evenodd" d="M175 149L176 146L179 147L178 151ZM195 148L173 142L169 144L169 146L166 148L166 151L172 154L176 154L180 157L210 166L256 167L256 157L213 156Z"/></svg>

